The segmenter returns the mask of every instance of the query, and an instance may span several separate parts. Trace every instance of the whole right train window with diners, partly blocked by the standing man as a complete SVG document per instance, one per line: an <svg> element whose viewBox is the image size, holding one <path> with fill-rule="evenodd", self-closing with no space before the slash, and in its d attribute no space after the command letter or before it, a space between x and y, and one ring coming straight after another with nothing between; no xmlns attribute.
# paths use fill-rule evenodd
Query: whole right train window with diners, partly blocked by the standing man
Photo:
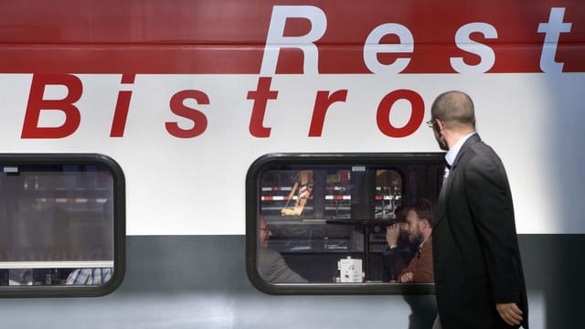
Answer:
<svg viewBox="0 0 585 329"><path fill-rule="evenodd" d="M250 281L275 294L434 292L432 273L400 275L424 243L407 215L432 208L443 169L440 153L261 156L246 178Z"/></svg>

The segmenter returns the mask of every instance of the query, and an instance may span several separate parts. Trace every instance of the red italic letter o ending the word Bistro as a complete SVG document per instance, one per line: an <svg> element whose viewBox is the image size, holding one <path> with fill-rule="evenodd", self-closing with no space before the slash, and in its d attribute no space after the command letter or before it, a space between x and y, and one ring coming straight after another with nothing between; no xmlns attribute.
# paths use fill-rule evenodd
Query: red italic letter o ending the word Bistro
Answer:
<svg viewBox="0 0 585 329"><path fill-rule="evenodd" d="M412 111L410 120L404 127L397 128L390 122L390 110L396 101L410 101ZM412 90L394 90L386 95L378 105L376 122L378 129L389 137L406 137L414 133L420 127L424 118L424 101L418 93Z"/></svg>

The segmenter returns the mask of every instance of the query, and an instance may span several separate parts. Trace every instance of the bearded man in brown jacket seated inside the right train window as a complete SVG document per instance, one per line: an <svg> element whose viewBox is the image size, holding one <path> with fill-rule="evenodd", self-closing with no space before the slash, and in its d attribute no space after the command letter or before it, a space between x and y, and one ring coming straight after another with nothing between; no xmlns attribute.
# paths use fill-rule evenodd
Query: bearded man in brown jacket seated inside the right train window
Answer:
<svg viewBox="0 0 585 329"><path fill-rule="evenodd" d="M418 250L410 260L409 266L400 273L399 282L434 281L431 246L432 218L433 208L427 200L420 199L417 205L408 209L406 220L409 239L411 243L418 246Z"/></svg>

